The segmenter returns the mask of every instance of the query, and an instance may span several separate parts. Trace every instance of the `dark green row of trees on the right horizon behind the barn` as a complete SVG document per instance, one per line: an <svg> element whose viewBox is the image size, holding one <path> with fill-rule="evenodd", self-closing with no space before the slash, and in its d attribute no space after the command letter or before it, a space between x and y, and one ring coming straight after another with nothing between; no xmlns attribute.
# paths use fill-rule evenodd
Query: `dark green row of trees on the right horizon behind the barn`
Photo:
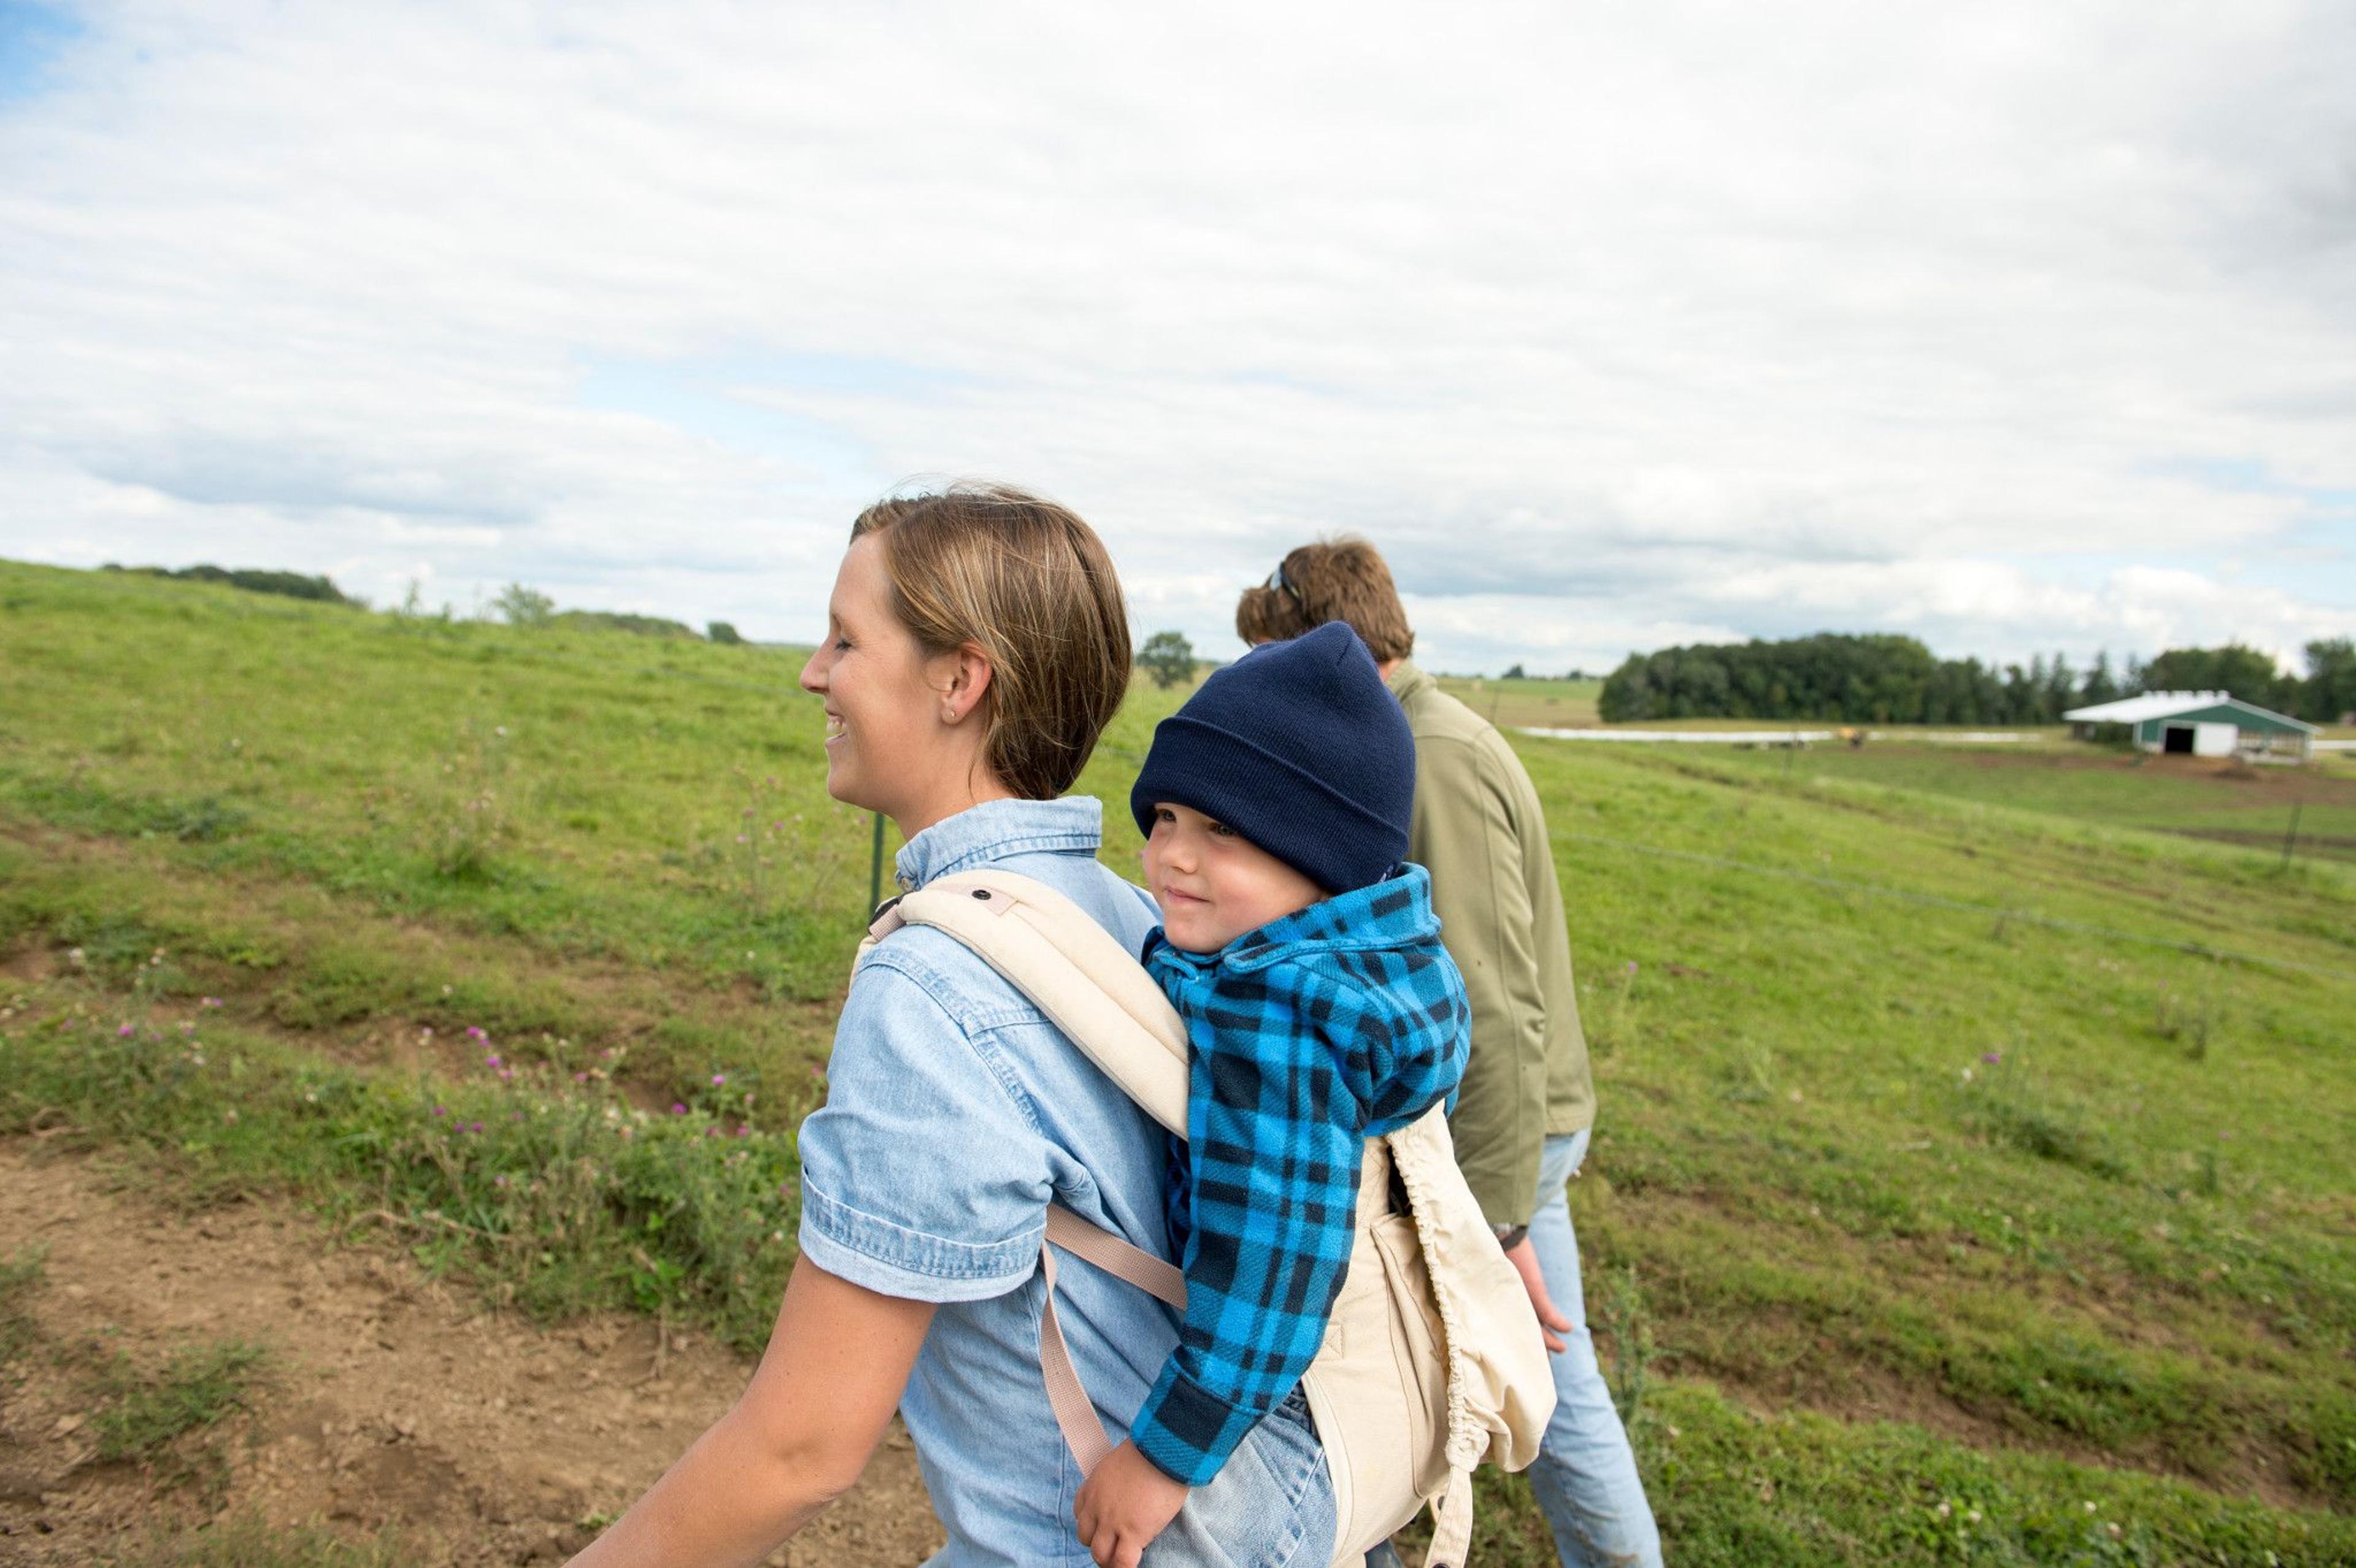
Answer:
<svg viewBox="0 0 2356 1568"><path fill-rule="evenodd" d="M2137 692L2229 692L2278 713L2335 723L2356 709L2356 640L2307 645L2307 673L2238 643L2170 647L2123 666L2066 655L2021 664L1939 659L1906 636L1819 633L1767 643L1696 643L1628 659L1604 676L1604 723L1642 718L1838 718L1880 725L2052 725L2069 709Z"/></svg>

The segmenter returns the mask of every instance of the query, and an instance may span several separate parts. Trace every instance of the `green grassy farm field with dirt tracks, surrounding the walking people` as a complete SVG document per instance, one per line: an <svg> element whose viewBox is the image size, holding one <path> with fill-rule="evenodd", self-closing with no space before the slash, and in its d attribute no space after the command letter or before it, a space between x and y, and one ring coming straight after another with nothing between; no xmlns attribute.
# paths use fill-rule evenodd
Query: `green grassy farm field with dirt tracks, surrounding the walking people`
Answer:
<svg viewBox="0 0 2356 1568"><path fill-rule="evenodd" d="M867 899L796 669L0 563L0 1561L554 1561L733 1398ZM2356 869L1517 746L1673 1561L2356 1561Z"/></svg>

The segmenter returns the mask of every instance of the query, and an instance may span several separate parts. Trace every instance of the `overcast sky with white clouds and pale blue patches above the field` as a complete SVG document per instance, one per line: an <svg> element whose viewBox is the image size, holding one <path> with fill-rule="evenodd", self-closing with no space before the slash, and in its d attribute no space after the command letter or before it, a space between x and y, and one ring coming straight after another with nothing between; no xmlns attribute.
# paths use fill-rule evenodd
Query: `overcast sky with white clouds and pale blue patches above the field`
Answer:
<svg viewBox="0 0 2356 1568"><path fill-rule="evenodd" d="M0 0L0 556L813 638L987 476L1213 655L1355 530L1440 669L2295 657L2349 82L2344 0Z"/></svg>

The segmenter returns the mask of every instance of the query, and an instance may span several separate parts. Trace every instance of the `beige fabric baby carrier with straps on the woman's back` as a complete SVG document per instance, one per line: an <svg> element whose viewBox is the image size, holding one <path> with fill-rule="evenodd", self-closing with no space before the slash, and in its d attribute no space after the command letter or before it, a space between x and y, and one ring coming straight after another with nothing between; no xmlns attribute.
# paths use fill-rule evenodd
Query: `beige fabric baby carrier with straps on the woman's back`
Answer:
<svg viewBox="0 0 2356 1568"><path fill-rule="evenodd" d="M980 954L1138 1107L1185 1137L1185 1024L1154 977L1079 904L1027 876L964 871L888 904L867 942L900 925L933 925ZM1404 1191L1404 1210L1395 1191ZM1112 1443L1055 1321L1058 1248L1178 1309L1185 1276L1072 1210L1048 1208L1039 1361L1055 1422L1086 1474ZM1472 1540L1472 1467L1522 1469L1538 1455L1555 1410L1546 1342L1456 1170L1440 1107L1366 1142L1350 1271L1301 1389L1333 1476L1336 1566L1362 1561L1430 1504L1425 1563L1458 1568Z"/></svg>

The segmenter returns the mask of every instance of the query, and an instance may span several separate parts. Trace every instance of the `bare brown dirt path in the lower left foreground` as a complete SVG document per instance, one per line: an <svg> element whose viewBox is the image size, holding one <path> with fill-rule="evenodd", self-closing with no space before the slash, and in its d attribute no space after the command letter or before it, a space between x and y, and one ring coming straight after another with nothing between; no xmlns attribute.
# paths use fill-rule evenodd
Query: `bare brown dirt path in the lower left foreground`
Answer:
<svg viewBox="0 0 2356 1568"><path fill-rule="evenodd" d="M0 1142L0 1257L45 1248L40 1342L0 1380L0 1566L90 1563L165 1521L398 1526L405 1563L561 1561L744 1387L747 1363L643 1318L558 1333L492 1316L401 1255L335 1248L304 1212L181 1215L104 1158ZM212 1486L94 1462L92 1356L160 1361L221 1337L271 1349L273 1384L210 1439ZM773 1563L916 1563L940 1547L907 1434Z"/></svg>

